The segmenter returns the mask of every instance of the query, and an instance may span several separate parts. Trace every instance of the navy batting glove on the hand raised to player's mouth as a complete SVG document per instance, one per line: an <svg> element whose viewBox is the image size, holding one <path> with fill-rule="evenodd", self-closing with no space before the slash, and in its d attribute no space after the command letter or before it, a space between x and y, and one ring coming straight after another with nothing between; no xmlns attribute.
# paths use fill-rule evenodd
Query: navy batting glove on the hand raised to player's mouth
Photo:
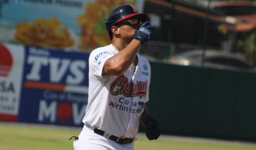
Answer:
<svg viewBox="0 0 256 150"><path fill-rule="evenodd" d="M153 27L151 27L149 24L149 21L143 23L139 27L137 33L134 35L133 39L139 40L141 44L147 42L154 35L152 32Z"/></svg>

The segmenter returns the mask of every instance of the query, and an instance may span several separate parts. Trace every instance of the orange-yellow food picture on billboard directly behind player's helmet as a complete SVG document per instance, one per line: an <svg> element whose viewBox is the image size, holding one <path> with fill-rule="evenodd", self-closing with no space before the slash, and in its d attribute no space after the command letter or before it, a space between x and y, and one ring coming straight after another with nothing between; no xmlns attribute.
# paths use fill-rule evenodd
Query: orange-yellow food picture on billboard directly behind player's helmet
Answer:
<svg viewBox="0 0 256 150"><path fill-rule="evenodd" d="M110 44L105 31L105 19L108 13L118 5L133 4L133 0L95 0L84 5L84 13L76 19L80 26L80 48L90 51L98 46Z"/></svg>

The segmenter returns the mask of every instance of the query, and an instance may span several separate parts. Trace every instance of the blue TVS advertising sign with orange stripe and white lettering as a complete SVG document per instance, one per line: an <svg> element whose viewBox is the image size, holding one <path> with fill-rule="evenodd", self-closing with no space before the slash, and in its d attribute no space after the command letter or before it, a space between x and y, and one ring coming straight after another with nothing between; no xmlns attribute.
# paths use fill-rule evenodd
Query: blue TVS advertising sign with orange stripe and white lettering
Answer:
<svg viewBox="0 0 256 150"><path fill-rule="evenodd" d="M88 53L26 46L19 121L82 125Z"/></svg>

